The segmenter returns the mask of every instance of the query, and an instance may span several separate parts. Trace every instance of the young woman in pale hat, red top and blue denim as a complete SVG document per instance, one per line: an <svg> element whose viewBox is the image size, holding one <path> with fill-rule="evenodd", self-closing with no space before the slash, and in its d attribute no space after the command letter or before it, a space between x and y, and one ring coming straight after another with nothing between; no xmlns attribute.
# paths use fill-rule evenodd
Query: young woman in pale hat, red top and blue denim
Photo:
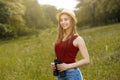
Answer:
<svg viewBox="0 0 120 80"><path fill-rule="evenodd" d="M58 37L55 42L56 60L60 63L51 63L53 71L59 71L58 80L83 80L78 67L90 63L88 50L83 38L76 31L77 19L75 13L64 9L56 15L58 20ZM76 61L78 51L82 56ZM64 74L61 74L64 72ZM61 75L64 75L61 77Z"/></svg>

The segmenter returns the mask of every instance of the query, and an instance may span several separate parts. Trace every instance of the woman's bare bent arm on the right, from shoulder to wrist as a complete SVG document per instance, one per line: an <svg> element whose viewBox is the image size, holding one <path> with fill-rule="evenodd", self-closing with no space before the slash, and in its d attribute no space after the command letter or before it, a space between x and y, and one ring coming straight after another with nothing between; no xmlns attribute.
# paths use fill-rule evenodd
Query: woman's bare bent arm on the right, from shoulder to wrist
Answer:
<svg viewBox="0 0 120 80"><path fill-rule="evenodd" d="M75 63L69 64L69 67L74 68L89 64L90 63L89 54L83 38L80 36L76 38L73 42L73 45L79 48L82 59Z"/></svg>

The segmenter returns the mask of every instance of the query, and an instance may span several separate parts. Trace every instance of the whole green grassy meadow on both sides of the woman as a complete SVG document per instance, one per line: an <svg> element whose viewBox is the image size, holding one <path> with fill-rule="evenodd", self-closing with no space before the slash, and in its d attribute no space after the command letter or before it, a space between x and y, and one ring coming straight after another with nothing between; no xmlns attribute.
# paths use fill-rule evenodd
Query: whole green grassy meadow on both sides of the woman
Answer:
<svg viewBox="0 0 120 80"><path fill-rule="evenodd" d="M84 79L119 80L120 24L78 32L91 59L90 65L80 67ZM55 39L56 29L50 28L38 35L0 41L0 80L56 80L50 67Z"/></svg>

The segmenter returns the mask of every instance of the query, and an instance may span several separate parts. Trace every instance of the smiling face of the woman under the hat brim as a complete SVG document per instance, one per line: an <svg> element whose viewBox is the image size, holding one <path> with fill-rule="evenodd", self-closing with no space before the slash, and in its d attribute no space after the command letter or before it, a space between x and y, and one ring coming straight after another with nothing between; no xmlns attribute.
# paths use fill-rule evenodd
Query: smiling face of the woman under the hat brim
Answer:
<svg viewBox="0 0 120 80"><path fill-rule="evenodd" d="M71 17L67 14L62 14L60 16L60 26L63 30L69 29L71 27Z"/></svg>

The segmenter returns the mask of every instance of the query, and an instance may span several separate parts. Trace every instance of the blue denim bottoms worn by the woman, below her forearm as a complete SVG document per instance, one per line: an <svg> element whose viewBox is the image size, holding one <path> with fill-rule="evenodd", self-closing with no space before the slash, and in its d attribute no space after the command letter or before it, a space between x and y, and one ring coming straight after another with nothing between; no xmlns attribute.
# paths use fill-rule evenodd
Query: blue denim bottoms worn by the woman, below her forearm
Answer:
<svg viewBox="0 0 120 80"><path fill-rule="evenodd" d="M73 68L65 71L66 76L58 76L58 80L83 80L82 74L79 68Z"/></svg>

